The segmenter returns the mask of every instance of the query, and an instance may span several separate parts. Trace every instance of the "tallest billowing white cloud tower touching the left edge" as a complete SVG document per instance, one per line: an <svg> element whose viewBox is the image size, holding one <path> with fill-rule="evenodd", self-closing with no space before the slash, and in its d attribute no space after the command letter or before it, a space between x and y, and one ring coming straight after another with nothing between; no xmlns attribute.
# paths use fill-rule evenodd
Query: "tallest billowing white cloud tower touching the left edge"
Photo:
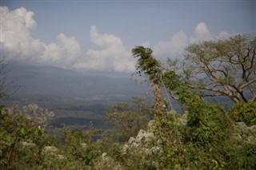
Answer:
<svg viewBox="0 0 256 170"><path fill-rule="evenodd" d="M6 6L0 7L1 13L1 52L13 60L30 59L32 54L39 53L42 42L32 38L31 30L36 26L33 12L25 8L9 11ZM30 46L35 48L30 48Z"/></svg>

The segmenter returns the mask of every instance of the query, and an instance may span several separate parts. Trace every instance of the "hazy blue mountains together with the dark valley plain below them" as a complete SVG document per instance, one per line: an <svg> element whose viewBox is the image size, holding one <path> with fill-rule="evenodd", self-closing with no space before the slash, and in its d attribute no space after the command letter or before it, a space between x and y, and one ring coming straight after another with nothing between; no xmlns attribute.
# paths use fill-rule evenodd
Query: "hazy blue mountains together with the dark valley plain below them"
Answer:
<svg viewBox="0 0 256 170"><path fill-rule="evenodd" d="M131 73L83 72L51 66L9 64L8 81L18 90L3 101L6 105L37 104L54 111L54 127L62 124L86 128L106 128L106 110L132 97L151 98L146 83L133 80Z"/></svg>

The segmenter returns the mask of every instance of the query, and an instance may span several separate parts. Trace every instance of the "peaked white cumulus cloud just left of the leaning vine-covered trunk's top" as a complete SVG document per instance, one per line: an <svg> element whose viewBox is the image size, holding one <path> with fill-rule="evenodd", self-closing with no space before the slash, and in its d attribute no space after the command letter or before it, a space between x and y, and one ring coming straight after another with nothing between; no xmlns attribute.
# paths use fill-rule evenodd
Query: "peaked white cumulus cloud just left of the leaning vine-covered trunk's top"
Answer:
<svg viewBox="0 0 256 170"><path fill-rule="evenodd" d="M100 49L89 49L85 57L74 66L77 69L110 69L116 72L132 72L135 61L130 49L122 44L121 38L113 34L101 34L96 26L90 27L90 40Z"/></svg>

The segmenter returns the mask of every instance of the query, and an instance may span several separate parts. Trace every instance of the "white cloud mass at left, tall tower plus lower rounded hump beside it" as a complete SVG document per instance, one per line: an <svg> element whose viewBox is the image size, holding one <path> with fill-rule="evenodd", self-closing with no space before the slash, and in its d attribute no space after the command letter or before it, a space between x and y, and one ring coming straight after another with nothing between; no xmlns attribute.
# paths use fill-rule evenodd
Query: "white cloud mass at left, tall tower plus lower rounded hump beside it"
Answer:
<svg viewBox="0 0 256 170"><path fill-rule="evenodd" d="M75 38L59 34L57 42L46 44L32 36L37 23L34 13L21 7L10 11L0 6L1 13L1 55L10 61L70 67L81 48Z"/></svg>

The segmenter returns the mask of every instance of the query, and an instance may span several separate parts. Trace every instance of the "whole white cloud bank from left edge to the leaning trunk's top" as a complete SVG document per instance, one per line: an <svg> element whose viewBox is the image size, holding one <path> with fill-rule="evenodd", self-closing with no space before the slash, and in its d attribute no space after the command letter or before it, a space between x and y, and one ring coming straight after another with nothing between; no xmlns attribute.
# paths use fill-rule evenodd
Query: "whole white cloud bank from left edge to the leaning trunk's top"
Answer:
<svg viewBox="0 0 256 170"><path fill-rule="evenodd" d="M96 26L90 28L90 41L97 49L89 49L83 55L81 45L74 37L58 34L56 42L50 44L34 38L32 32L37 23L33 12L23 7L10 11L6 6L1 6L0 13L1 55L7 60L71 69L111 69L117 72L135 69L130 49L122 44L121 38L113 34L101 34Z"/></svg>

